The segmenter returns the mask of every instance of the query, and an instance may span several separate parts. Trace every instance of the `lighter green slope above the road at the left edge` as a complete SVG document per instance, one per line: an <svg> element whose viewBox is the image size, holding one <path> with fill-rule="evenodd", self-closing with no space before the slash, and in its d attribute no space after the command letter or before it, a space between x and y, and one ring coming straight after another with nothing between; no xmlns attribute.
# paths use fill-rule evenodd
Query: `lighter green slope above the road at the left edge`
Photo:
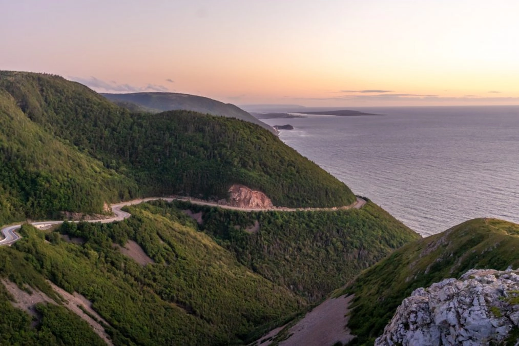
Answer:
<svg viewBox="0 0 519 346"><path fill-rule="evenodd" d="M105 201L129 198L135 189L132 180L48 134L0 90L0 224L59 211L102 212Z"/></svg>

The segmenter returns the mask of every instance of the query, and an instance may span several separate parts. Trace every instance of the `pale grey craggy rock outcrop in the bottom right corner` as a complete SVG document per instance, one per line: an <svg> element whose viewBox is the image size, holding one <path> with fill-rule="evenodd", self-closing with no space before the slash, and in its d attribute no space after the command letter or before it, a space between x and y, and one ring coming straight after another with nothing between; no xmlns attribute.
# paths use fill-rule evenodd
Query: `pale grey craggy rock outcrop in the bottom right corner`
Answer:
<svg viewBox="0 0 519 346"><path fill-rule="evenodd" d="M519 326L519 271L470 270L418 288L375 345L488 345Z"/></svg>

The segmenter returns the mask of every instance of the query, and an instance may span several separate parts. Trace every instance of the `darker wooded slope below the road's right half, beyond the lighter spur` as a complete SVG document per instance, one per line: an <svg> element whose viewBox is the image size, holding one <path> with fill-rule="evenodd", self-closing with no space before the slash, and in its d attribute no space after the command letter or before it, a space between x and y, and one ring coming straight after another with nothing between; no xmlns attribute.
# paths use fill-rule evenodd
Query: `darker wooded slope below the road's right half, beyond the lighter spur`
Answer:
<svg viewBox="0 0 519 346"><path fill-rule="evenodd" d="M172 206L160 205L163 214ZM242 212L180 201L174 205L202 212L199 229L240 263L312 302L419 238L371 202L361 209L297 212Z"/></svg>

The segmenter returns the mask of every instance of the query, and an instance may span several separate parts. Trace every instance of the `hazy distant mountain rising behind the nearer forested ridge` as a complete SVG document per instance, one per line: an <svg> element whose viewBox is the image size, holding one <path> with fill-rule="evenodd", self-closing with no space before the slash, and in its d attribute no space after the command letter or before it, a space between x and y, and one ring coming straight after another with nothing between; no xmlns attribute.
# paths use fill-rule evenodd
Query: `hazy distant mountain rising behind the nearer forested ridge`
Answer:
<svg viewBox="0 0 519 346"><path fill-rule="evenodd" d="M154 113L175 110L193 111L202 114L237 118L249 123L260 125L261 127L274 132L272 127L236 107L234 104L223 103L207 97L177 94L175 92L134 92L132 94L102 93L101 95L106 97L108 100L118 103L121 107L130 109L131 111L147 111ZM135 107L135 105L138 107Z"/></svg>

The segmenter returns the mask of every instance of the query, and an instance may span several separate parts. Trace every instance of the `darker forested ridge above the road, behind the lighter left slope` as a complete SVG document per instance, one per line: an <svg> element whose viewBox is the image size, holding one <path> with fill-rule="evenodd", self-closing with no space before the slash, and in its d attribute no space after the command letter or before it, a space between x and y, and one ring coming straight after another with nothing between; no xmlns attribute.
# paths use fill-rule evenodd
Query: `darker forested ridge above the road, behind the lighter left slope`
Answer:
<svg viewBox="0 0 519 346"><path fill-rule="evenodd" d="M187 111L130 113L52 75L0 72L0 87L33 123L135 181L143 195L220 199L241 183L279 206L343 206L355 199L345 184L248 122Z"/></svg>

